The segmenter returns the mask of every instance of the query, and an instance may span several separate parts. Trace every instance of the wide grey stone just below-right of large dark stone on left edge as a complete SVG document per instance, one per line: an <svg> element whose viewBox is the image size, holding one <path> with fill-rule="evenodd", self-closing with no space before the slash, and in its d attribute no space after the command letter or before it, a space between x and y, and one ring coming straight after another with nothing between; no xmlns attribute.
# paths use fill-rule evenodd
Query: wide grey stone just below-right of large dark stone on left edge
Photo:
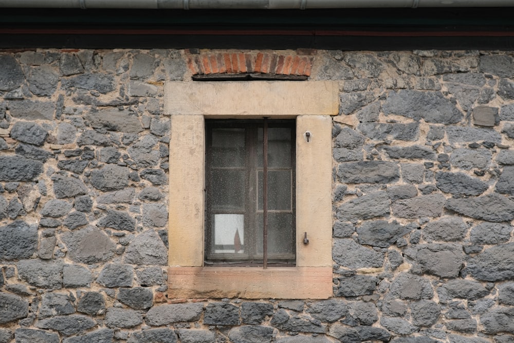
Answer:
<svg viewBox="0 0 514 343"><path fill-rule="evenodd" d="M63 262L20 260L16 263L21 280L40 288L59 290L63 284Z"/></svg>

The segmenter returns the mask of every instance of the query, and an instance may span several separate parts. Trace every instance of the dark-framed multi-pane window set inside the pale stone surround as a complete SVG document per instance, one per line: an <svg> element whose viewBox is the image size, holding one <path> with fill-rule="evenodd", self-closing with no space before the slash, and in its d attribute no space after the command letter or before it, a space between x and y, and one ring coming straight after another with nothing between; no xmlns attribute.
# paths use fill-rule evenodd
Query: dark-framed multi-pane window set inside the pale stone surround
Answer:
<svg viewBox="0 0 514 343"><path fill-rule="evenodd" d="M294 120L206 120L206 265L295 265L295 141Z"/></svg>

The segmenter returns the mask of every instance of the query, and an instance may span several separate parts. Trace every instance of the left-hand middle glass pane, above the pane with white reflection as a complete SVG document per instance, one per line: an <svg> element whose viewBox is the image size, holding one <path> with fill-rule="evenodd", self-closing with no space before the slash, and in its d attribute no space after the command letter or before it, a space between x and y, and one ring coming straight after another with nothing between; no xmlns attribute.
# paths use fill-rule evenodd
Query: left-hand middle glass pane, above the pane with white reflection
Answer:
<svg viewBox="0 0 514 343"><path fill-rule="evenodd" d="M245 210L244 170L211 170L210 201L212 210L236 212Z"/></svg>

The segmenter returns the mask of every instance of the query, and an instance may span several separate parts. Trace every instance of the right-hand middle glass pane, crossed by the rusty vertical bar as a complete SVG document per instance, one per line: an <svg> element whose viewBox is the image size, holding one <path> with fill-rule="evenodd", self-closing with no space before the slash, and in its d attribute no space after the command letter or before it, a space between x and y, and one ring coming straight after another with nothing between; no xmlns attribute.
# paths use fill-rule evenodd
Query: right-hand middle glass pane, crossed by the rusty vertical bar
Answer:
<svg viewBox="0 0 514 343"><path fill-rule="evenodd" d="M259 175L259 210L263 209L263 171ZM268 170L268 210L291 210L291 171Z"/></svg>

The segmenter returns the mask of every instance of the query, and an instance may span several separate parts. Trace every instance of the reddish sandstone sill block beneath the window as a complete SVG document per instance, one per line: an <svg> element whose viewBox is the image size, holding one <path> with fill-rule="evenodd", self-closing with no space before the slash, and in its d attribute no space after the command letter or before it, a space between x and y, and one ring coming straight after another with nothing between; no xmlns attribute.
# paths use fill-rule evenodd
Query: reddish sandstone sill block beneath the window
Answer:
<svg viewBox="0 0 514 343"><path fill-rule="evenodd" d="M176 298L327 299L332 267L169 267Z"/></svg>

